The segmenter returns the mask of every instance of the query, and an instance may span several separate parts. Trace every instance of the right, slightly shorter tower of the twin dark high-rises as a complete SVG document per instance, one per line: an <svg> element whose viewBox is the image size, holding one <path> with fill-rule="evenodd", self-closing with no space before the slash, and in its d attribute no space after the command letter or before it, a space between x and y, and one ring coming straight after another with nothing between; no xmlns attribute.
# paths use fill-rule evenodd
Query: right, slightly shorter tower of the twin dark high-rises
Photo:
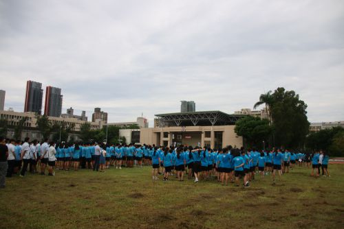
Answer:
<svg viewBox="0 0 344 229"><path fill-rule="evenodd" d="M47 86L45 91L44 115L60 117L62 112L61 88Z"/></svg>

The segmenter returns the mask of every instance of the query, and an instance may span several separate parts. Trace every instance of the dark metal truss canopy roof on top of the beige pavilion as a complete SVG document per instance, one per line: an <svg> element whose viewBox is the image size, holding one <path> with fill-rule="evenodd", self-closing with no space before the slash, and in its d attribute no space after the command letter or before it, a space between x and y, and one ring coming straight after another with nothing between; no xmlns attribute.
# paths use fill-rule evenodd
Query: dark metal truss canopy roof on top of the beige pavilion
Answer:
<svg viewBox="0 0 344 229"><path fill-rule="evenodd" d="M228 115L219 110L178 112L155 115L159 127L192 125L234 125L235 121L247 115Z"/></svg>

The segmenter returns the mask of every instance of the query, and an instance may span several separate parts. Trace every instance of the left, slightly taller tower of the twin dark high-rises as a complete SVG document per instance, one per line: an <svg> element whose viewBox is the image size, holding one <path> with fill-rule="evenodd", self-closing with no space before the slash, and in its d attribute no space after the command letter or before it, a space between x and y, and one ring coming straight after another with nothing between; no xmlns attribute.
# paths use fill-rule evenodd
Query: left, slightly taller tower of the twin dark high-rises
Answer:
<svg viewBox="0 0 344 229"><path fill-rule="evenodd" d="M42 112L43 90L42 84L29 80L26 82L24 112Z"/></svg>

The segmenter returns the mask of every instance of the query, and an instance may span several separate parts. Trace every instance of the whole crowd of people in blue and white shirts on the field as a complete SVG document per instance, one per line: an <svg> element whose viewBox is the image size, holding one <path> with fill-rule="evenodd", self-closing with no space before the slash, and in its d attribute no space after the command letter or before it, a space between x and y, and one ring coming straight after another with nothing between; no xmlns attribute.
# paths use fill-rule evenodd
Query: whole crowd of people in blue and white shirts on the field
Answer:
<svg viewBox="0 0 344 229"><path fill-rule="evenodd" d="M255 179L255 173L261 178L272 173L275 183L276 173L281 178L282 173L297 163L310 167L312 162L312 176L319 176L320 168L323 176L330 176L327 170L329 156L325 152L294 153L288 149L271 149L258 152L255 149L235 149L231 146L224 149L209 149L207 147L155 147L155 145L107 145L97 143L42 143L14 141L0 137L0 187L5 186L5 176L10 178L13 173L24 177L27 169L31 173L41 173L54 176L54 168L58 170L93 169L104 172L109 167L122 169L125 167L142 167L151 165L152 178L169 180L175 173L176 178L184 180L184 173L188 178L208 180L217 178L223 185L228 181L239 186L242 179L245 187L250 186L250 181ZM39 172L37 167L39 167Z"/></svg>

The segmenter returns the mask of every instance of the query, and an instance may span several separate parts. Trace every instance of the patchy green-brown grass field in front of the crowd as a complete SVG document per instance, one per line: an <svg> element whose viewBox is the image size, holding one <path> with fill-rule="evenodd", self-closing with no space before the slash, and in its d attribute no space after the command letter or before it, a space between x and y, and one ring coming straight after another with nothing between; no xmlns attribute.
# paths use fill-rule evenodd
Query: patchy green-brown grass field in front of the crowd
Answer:
<svg viewBox="0 0 344 229"><path fill-rule="evenodd" d="M330 178L294 169L272 186L153 182L150 167L56 171L7 180L0 228L343 228L344 165Z"/></svg>

